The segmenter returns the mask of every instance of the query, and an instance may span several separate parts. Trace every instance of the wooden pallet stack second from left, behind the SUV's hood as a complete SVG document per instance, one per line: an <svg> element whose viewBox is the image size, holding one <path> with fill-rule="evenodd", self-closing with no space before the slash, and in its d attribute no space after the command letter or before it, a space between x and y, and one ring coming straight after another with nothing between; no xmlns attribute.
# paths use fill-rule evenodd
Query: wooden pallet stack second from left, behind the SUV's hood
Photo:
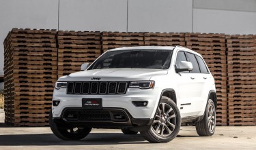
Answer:
<svg viewBox="0 0 256 150"><path fill-rule="evenodd" d="M101 54L100 32L58 31L58 77L81 70Z"/></svg>

